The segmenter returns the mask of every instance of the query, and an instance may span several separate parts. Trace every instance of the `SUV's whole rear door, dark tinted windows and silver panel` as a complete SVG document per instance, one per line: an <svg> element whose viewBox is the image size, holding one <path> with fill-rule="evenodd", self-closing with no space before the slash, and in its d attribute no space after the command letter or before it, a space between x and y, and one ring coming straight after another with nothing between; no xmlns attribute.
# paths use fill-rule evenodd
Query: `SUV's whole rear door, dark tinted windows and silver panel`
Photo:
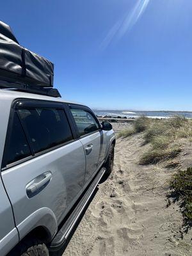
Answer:
<svg viewBox="0 0 192 256"><path fill-rule="evenodd" d="M20 234L24 221L40 209L51 209L59 224L81 195L84 172L84 150L74 138L63 104L14 104L2 178Z"/></svg>

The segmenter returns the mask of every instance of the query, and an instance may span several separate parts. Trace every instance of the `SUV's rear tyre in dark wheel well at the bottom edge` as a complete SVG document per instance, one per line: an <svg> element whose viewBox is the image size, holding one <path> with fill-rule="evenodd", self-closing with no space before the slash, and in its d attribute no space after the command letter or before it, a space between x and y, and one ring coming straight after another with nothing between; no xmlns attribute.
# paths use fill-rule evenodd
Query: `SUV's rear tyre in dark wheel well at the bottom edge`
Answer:
<svg viewBox="0 0 192 256"><path fill-rule="evenodd" d="M8 256L49 256L49 250L42 241L28 237L17 244Z"/></svg>

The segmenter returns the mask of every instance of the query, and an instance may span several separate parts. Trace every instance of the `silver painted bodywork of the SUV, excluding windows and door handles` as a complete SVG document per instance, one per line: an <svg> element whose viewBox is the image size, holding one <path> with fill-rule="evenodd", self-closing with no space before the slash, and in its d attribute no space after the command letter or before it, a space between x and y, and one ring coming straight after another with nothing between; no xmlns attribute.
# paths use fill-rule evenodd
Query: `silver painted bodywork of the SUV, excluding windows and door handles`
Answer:
<svg viewBox="0 0 192 256"><path fill-rule="evenodd" d="M0 125L1 163L10 110L16 99L74 104L74 102L44 95L0 90L0 109L3 109L0 111L0 120L3 120ZM81 105L78 106L81 107ZM70 114L68 115L70 118ZM72 124L74 123L70 122L70 125ZM74 125L73 129L75 129ZM109 147L114 140L113 130L104 131L99 127L99 130L92 134L74 138L67 145L61 145L1 172L3 183L1 184L0 180L0 192L3 191L3 193L0 196L3 209L0 206L0 216L3 215L1 216L0 255L4 256L18 243L19 238L22 239L36 227L44 227L50 239L54 237L58 225L106 161ZM85 148L89 144L92 144L93 148L90 154L86 155ZM47 172L52 175L49 184L40 193L29 198L26 193L27 186L36 177Z"/></svg>

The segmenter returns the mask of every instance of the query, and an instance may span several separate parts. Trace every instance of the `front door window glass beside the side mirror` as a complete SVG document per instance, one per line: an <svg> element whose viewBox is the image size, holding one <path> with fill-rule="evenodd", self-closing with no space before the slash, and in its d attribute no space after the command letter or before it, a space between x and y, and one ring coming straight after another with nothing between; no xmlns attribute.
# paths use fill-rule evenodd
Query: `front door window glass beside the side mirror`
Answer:
<svg viewBox="0 0 192 256"><path fill-rule="evenodd" d="M99 130L99 124L90 112L84 109L72 108L70 110L76 121L80 136Z"/></svg>

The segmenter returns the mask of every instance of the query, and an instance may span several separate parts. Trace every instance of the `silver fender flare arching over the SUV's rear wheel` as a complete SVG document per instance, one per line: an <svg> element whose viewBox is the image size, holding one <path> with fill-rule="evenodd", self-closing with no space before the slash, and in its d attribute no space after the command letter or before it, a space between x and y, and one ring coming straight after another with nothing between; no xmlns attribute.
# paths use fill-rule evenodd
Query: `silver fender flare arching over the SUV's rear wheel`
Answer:
<svg viewBox="0 0 192 256"><path fill-rule="evenodd" d="M26 237L31 231L33 231L37 227L43 227L47 232L49 241L52 240L58 230L58 223L56 220L56 216L51 209L47 207L40 208L30 214L28 218L19 223L19 225L17 225L19 240Z"/></svg>

